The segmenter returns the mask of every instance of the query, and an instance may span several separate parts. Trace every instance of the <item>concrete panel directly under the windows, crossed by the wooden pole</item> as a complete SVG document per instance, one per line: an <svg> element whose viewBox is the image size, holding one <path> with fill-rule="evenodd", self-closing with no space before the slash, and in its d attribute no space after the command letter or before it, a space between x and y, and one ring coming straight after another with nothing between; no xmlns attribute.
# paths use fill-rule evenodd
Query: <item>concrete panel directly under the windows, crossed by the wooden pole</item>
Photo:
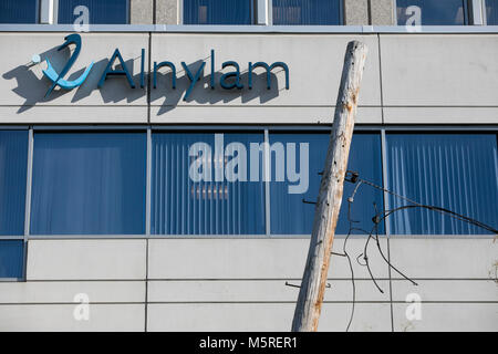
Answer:
<svg viewBox="0 0 498 354"><path fill-rule="evenodd" d="M386 252L385 239L382 247ZM343 239L334 241L342 252ZM301 279L310 241L308 239L172 239L149 240L149 279ZM365 240L350 239L355 277L370 279L366 267L356 263ZM387 279L387 266L374 242L369 257L377 278ZM346 258L335 256L329 272L331 279L350 279Z"/></svg>

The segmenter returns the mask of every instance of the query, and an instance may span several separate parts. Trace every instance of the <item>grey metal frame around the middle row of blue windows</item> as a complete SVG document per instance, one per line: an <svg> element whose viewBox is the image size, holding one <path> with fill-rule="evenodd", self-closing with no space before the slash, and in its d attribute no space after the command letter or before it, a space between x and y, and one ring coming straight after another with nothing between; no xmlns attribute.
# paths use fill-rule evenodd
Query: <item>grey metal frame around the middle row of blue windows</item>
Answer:
<svg viewBox="0 0 498 354"><path fill-rule="evenodd" d="M24 235L23 236L0 236L0 240L3 239L17 239L24 241L24 279L27 269L27 252L29 240L37 239L309 239L309 235L272 235L271 233L271 204L270 204L270 181L267 178L264 190L264 222L266 232L262 235L151 235L151 214L152 214L152 135L154 132L195 132L195 131L208 131L208 132L259 132L264 134L263 142L269 143L269 135L271 132L330 132L330 125L33 125L33 126L19 126L19 125L0 125L0 129L29 129L29 148L28 148L28 171L27 171L27 202L24 214ZM126 132L126 131L143 131L147 134L146 138L146 218L145 218L145 232L144 235L30 235L30 221L31 221L31 191L32 191L32 165L34 154L34 132L98 132L98 131L112 131L112 132ZM387 184L387 156L386 156L386 134L390 132L436 132L436 133L458 133L469 132L474 134L478 133L495 133L498 134L498 125L356 125L355 132L372 132L380 134L381 136L381 162L382 162L382 180L383 186L388 187ZM270 173L269 168L269 150L263 154L264 173ZM388 197L384 192L384 206L388 208ZM345 236L338 235L338 238ZM363 236L352 236L363 237ZM447 238L448 235L435 235L435 236L416 236L416 235L392 235L388 222L385 222L385 232L382 237L387 238ZM452 238L463 239L489 239L492 235L449 235ZM18 281L22 279L18 279Z"/></svg>

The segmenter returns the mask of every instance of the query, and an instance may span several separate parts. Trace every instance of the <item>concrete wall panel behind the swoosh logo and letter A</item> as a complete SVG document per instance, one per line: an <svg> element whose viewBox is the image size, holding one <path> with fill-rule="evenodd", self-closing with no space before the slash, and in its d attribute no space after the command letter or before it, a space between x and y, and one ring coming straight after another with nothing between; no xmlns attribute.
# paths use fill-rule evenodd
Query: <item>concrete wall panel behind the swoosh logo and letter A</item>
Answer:
<svg viewBox="0 0 498 354"><path fill-rule="evenodd" d="M93 111L84 111L81 115L76 115L80 122L94 121L92 114L100 114L104 119L108 113L107 107L114 106L117 111L111 115L111 122L115 122L118 115L124 115L124 121L129 119L132 113L126 110L129 106L144 106L139 116L143 118L146 113L147 94L146 88L139 88L141 76L141 50L148 48L147 33L127 33L125 35L118 33L82 33L82 50L69 74L64 76L66 80L75 80L83 71L95 62L89 77L77 88L65 91L55 88L46 98L51 82L43 77L42 70L46 67L45 59L50 59L52 65L58 72L65 66L71 51L65 49L61 52L58 48L64 43L64 37L68 33L9 33L0 35L0 46L4 53L0 59L0 107L9 107L11 111L2 113L1 122L25 122L33 121L32 106L61 106L72 110L74 106L91 106ZM102 90L97 90L98 81L111 59L114 50L118 48L123 60L134 79L136 88L131 88L124 76L110 77L105 82ZM12 55L12 53L14 53ZM33 66L27 66L33 54L40 54L42 62ZM117 62L117 61L116 61ZM148 59L144 60L145 69L148 69ZM117 108L121 105L122 107ZM104 108L105 106L105 108ZM103 111L95 113L98 107ZM68 112L68 111L66 111ZM65 113L66 113L65 112ZM71 111L72 112L72 111ZM11 116L10 114L13 115ZM9 114L4 116L3 114ZM74 122L72 114L58 118L61 123ZM137 114L134 112L133 114ZM55 113L56 115L56 113ZM46 118L55 121L48 116L40 116L38 121ZM139 118L135 118L139 119ZM102 121L102 119L101 119Z"/></svg>

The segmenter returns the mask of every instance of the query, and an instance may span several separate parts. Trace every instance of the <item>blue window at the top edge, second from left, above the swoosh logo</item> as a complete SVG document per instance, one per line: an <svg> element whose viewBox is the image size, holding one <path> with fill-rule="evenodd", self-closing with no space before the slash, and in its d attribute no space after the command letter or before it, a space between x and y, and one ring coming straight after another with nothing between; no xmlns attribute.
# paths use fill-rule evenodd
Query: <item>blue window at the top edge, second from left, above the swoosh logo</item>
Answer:
<svg viewBox="0 0 498 354"><path fill-rule="evenodd" d="M59 23L74 23L84 6L89 9L90 23L125 24L128 23L128 0L63 0L59 1ZM74 11L76 9L76 14Z"/></svg>

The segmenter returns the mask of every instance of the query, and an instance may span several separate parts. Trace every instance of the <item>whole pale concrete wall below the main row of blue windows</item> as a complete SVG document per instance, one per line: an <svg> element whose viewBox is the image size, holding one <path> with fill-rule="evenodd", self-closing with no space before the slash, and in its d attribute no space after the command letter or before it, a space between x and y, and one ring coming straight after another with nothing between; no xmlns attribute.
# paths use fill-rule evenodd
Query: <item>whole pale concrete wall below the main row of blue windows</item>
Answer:
<svg viewBox="0 0 498 354"><path fill-rule="evenodd" d="M343 241L335 240L335 252ZM384 293L354 261L364 243L353 238L347 244L356 278L352 331L498 330L492 239L383 238L393 264L417 287L390 274L371 243L372 271ZM286 282L299 284L308 244L308 239L31 240L28 280L0 282L0 331L288 331L299 289ZM321 331L345 330L350 278L346 259L333 257ZM90 300L89 321L73 315L81 293ZM422 299L421 320L405 316L411 293Z"/></svg>

